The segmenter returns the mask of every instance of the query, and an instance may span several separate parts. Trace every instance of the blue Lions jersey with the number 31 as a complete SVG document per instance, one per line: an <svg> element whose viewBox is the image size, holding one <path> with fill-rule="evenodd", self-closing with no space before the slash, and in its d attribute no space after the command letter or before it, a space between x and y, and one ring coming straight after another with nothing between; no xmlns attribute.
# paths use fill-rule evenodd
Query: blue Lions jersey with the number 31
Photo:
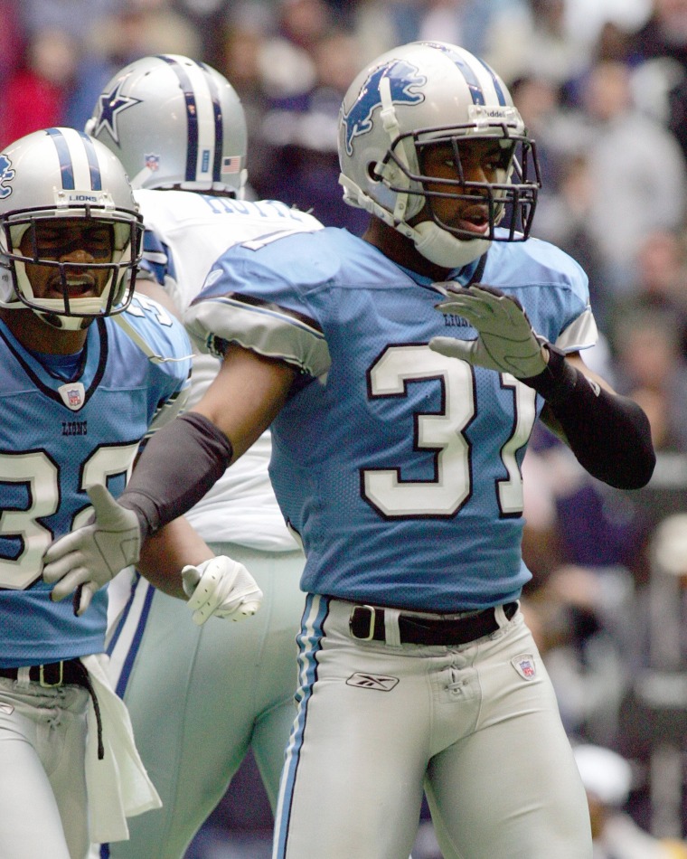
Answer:
<svg viewBox="0 0 687 859"><path fill-rule="evenodd" d="M594 344L587 278L550 244L494 243L480 280L564 351ZM205 348L232 341L299 370L270 474L304 543L304 590L448 612L517 599L530 578L521 464L543 402L508 373L428 348L476 336L436 309L441 297L326 229L228 250L187 311Z"/></svg>

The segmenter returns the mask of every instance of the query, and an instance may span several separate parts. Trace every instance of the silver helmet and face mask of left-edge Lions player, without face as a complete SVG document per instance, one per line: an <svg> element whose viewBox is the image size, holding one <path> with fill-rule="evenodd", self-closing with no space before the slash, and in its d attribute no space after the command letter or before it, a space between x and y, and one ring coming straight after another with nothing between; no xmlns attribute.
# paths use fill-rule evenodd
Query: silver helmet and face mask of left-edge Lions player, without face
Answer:
<svg viewBox="0 0 687 859"><path fill-rule="evenodd" d="M111 259L63 262L55 254L42 257L36 225L54 219L106 225ZM33 249L29 255L20 248L27 231ZM97 140L73 128L47 128L21 137L0 153L0 306L30 307L50 325L69 330L120 313L133 295L142 240L142 219L124 167ZM27 263L55 269L62 297L35 297ZM99 297L70 298L68 280L78 277L80 269L108 272Z"/></svg>

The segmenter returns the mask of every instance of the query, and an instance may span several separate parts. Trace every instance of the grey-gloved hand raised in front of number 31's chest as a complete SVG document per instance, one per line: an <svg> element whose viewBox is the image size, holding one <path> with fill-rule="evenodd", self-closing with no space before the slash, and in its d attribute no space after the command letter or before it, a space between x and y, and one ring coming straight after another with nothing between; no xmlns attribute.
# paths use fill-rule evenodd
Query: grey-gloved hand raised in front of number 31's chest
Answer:
<svg viewBox="0 0 687 859"><path fill-rule="evenodd" d="M483 284L435 286L446 296L437 309L462 316L477 329L478 336L475 340L432 337L429 348L434 352L498 373L512 373L516 379L529 379L546 369L547 354L542 349L546 341L532 329L517 298Z"/></svg>

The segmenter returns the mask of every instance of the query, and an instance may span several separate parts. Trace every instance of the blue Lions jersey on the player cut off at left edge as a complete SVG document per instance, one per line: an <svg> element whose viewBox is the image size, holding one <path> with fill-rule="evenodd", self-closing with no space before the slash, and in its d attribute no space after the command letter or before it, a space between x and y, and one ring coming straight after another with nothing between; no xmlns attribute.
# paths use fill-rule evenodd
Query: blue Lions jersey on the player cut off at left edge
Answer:
<svg viewBox="0 0 687 859"><path fill-rule="evenodd" d="M89 519L87 486L122 492L141 440L184 402L190 353L184 327L136 297L89 326L65 382L0 321L0 665L104 650L107 590L75 617L71 599L50 599L42 555Z"/></svg>

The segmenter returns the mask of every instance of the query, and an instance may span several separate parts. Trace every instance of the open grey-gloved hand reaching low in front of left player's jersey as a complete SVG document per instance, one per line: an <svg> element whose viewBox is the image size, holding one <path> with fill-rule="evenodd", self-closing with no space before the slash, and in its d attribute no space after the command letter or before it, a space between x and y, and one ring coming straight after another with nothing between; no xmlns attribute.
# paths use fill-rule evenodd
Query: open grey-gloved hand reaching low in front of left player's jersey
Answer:
<svg viewBox="0 0 687 859"><path fill-rule="evenodd" d="M43 581L55 585L51 598L59 602L76 590L76 615L89 608L97 590L138 561L141 548L136 514L118 505L105 486L89 486L86 491L94 521L56 540L43 556Z"/></svg>

